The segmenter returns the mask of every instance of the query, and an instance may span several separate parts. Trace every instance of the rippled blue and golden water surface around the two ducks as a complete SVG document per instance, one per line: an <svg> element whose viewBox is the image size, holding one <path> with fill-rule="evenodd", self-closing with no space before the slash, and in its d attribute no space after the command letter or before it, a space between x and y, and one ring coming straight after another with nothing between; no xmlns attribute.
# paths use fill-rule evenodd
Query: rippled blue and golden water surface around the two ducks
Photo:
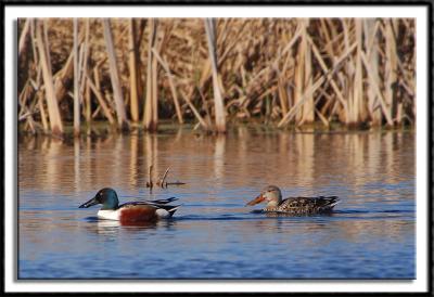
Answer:
<svg viewBox="0 0 434 297"><path fill-rule="evenodd" d="M176 131L18 142L18 279L414 279L414 133ZM156 180L182 186L144 188ZM245 203L337 195L334 214L267 217ZM104 186L120 202L176 196L169 221L119 225L78 209Z"/></svg>

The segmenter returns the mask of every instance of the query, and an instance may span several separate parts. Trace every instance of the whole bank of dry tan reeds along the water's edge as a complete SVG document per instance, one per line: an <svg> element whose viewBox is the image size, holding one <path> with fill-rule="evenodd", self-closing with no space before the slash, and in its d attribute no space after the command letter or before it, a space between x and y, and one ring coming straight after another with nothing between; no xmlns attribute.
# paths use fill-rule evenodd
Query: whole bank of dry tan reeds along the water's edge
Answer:
<svg viewBox="0 0 434 297"><path fill-rule="evenodd" d="M414 126L412 18L20 18L17 38L25 133Z"/></svg>

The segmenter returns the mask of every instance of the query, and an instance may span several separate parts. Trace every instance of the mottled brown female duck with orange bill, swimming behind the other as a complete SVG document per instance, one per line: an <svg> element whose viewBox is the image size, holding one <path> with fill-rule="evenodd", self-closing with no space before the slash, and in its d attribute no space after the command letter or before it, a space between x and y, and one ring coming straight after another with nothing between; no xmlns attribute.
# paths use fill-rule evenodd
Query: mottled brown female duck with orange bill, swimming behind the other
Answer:
<svg viewBox="0 0 434 297"><path fill-rule="evenodd" d="M268 185L259 196L247 205L267 202L263 209L266 212L282 212L288 215L314 215L329 212L339 203L337 196L319 197L290 197L282 201L282 193L276 185Z"/></svg>

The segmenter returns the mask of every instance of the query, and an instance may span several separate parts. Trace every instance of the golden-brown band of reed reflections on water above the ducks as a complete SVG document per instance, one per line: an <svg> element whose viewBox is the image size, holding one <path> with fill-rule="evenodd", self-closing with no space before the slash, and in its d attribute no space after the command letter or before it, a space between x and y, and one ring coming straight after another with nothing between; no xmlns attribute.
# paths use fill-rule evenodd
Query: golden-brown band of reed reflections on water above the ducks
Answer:
<svg viewBox="0 0 434 297"><path fill-rule="evenodd" d="M71 142L23 137L18 186L62 189L65 194L103 186L142 189L151 164L154 181L170 166L175 180L209 180L221 188L276 183L282 189L305 188L304 194L309 194L312 185L345 182L357 188L384 177L395 184L414 175L414 134L259 133L238 128L226 137L189 131Z"/></svg>

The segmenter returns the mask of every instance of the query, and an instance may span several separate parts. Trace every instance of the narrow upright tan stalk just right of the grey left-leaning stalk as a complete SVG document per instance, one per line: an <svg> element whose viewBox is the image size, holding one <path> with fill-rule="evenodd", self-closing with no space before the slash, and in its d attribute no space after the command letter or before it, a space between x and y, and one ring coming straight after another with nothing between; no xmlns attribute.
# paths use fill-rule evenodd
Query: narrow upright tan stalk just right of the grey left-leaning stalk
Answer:
<svg viewBox="0 0 434 297"><path fill-rule="evenodd" d="M133 121L139 120L139 98L137 86L137 49L136 49L136 27L135 20L128 21L128 50L129 50L129 78L130 78L130 113Z"/></svg>

